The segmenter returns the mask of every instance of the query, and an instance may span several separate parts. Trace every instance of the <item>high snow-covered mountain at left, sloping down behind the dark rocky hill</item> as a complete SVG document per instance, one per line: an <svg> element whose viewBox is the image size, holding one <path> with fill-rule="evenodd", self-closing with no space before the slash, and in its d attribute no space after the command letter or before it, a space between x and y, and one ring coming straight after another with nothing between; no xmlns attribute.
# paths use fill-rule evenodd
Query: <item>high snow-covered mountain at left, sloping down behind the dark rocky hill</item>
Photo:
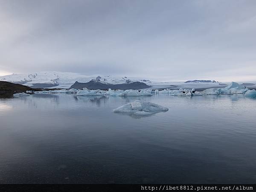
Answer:
<svg viewBox="0 0 256 192"><path fill-rule="evenodd" d="M95 79L102 83L110 84L129 84L134 81L140 81L146 84L151 84L152 82L148 79L130 79L126 76L102 76L93 75L86 76L80 73L66 73L66 72L39 72L31 74L12 74L7 76L0 76L0 81L9 81L12 83L23 84L29 87L52 87L52 88L68 88L76 81L79 82L89 82Z"/></svg>

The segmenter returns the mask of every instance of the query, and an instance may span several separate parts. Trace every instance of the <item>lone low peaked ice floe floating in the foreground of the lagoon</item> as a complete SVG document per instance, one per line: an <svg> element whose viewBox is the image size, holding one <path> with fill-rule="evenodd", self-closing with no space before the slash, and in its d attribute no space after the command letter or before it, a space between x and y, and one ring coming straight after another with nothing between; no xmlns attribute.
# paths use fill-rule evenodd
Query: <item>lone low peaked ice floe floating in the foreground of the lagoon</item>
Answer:
<svg viewBox="0 0 256 192"><path fill-rule="evenodd" d="M113 110L113 112L132 113L135 115L148 115L166 111L168 111L168 108L150 102L142 102L140 100L127 103Z"/></svg>

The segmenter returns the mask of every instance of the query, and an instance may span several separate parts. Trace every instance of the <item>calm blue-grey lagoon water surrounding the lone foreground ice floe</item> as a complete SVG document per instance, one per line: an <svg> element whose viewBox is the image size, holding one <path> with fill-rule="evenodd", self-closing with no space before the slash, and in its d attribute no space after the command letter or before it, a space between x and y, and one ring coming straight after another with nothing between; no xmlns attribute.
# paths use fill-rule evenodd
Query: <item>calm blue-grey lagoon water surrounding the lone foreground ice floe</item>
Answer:
<svg viewBox="0 0 256 192"><path fill-rule="evenodd" d="M169 108L113 113L141 99ZM255 183L256 99L0 99L0 183Z"/></svg>

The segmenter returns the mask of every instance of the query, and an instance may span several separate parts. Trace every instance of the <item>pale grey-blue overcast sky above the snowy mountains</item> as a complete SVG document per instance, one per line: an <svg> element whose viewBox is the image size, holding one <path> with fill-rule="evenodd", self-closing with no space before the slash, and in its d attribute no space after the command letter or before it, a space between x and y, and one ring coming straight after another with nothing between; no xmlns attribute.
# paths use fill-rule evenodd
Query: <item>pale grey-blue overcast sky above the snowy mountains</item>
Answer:
<svg viewBox="0 0 256 192"><path fill-rule="evenodd" d="M256 80L256 0L0 0L0 75Z"/></svg>

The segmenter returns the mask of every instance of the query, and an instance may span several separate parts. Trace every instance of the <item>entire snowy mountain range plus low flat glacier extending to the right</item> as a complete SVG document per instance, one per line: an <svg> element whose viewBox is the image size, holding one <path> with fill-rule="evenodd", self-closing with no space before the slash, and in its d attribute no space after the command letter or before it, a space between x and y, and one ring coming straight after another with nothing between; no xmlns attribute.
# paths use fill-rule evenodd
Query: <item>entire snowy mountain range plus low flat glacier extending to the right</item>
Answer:
<svg viewBox="0 0 256 192"><path fill-rule="evenodd" d="M170 76L171 78L171 76ZM69 88L76 81L80 83L87 83L91 80L100 81L109 84L129 84L135 81L143 82L150 85L151 88L209 88L209 87L224 87L225 84L218 81L201 81L193 80L186 82L174 81L151 81L149 79L133 79L128 76L111 76L111 75L83 75L81 73L67 73L67 72L39 72L30 74L12 74L7 76L0 76L0 81L9 81L12 83L23 84L29 87L38 88Z"/></svg>

